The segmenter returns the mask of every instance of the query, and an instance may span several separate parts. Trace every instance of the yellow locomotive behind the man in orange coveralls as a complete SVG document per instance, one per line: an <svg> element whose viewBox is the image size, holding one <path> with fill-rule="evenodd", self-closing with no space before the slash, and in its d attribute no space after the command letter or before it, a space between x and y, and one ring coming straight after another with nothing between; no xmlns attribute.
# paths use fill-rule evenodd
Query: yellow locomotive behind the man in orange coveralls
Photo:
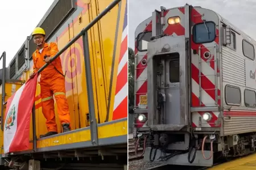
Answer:
<svg viewBox="0 0 256 170"><path fill-rule="evenodd" d="M38 83L30 149L3 152L5 103L32 73L36 46L30 35L9 67L5 67L8 54L1 58L0 168L80 169L93 163L101 169L123 169L127 164L127 0L55 0L37 27L46 31L46 42L56 42L60 50L71 131L62 133L56 116L59 134L39 138L47 127Z"/></svg>

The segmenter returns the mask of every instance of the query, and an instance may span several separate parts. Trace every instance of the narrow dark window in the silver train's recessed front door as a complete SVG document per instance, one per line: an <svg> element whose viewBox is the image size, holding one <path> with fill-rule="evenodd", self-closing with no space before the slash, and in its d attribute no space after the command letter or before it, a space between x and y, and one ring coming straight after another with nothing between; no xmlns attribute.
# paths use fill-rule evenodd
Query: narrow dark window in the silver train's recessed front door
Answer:
<svg viewBox="0 0 256 170"><path fill-rule="evenodd" d="M179 83L180 82L180 60L176 59L170 61L170 82Z"/></svg>

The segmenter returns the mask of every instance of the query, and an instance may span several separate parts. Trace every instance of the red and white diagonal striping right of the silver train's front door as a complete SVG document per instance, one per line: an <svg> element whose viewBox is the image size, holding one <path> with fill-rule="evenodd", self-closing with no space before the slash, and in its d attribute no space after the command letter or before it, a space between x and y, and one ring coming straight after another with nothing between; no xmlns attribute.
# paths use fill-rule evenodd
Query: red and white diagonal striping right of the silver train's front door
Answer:
<svg viewBox="0 0 256 170"><path fill-rule="evenodd" d="M204 14L204 16L202 16ZM192 10L192 22L194 24L203 23L203 19L212 20L215 23L218 23L217 15L214 14L213 11L205 10L203 8L193 8ZM215 84L214 80L214 58L216 56L212 56L210 62L207 62L207 59L203 57L203 54L207 51L213 53L213 48L210 48L214 45L218 45L219 37L218 37L218 29L216 29L216 38L213 42L206 44L195 44L192 41L191 50L196 49L198 51L199 46L201 49L201 56L194 54L192 56L191 63L191 76L192 76L192 107L204 107L204 106L214 106L215 98L220 96L220 78L217 77L217 83ZM199 103L199 61L201 63L201 105ZM217 73L219 73L219 69L217 68ZM215 88L217 88L218 92L215 96ZM220 99L217 102L220 105ZM199 117L203 116L205 112L193 112L192 113L192 126L193 127L218 127L220 125L216 125L215 121L218 119L218 114L220 112L209 112L212 114L212 120L206 122L202 119L202 124L199 125Z"/></svg>

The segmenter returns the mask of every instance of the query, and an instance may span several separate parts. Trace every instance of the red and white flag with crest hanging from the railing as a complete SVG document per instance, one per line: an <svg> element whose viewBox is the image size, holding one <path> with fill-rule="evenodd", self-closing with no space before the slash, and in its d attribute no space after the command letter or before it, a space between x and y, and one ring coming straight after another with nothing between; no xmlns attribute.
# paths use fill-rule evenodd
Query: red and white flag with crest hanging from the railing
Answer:
<svg viewBox="0 0 256 170"><path fill-rule="evenodd" d="M36 92L38 73L28 79L7 100L3 131L4 153L28 150L30 143L30 118Z"/></svg>

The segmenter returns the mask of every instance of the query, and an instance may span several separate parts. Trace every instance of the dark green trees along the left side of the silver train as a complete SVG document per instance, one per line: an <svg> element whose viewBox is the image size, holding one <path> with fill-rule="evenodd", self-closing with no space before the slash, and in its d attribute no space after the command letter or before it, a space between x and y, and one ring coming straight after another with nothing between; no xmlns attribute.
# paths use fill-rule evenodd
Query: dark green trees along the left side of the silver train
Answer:
<svg viewBox="0 0 256 170"><path fill-rule="evenodd" d="M133 107L134 107L134 50L129 47L129 73L128 73L128 78L129 78L129 113L133 112Z"/></svg>

